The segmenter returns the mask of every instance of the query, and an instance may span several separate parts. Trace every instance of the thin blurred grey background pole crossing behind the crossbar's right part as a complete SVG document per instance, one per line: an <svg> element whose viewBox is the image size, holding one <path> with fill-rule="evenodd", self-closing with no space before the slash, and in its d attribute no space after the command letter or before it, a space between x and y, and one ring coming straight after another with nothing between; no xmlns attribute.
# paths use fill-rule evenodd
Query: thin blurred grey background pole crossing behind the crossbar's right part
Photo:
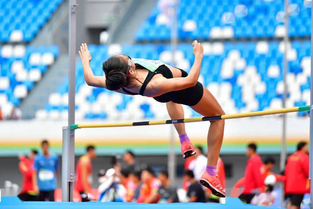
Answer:
<svg viewBox="0 0 313 209"><path fill-rule="evenodd" d="M285 44L285 54L284 54L284 94L283 94L283 108L286 108L286 98L287 98L287 81L286 75L288 70L288 60L287 60L287 53L288 53L288 27L289 27L289 12L288 12L288 5L289 1L284 0L285 6L285 36L284 36L284 44ZM280 153L280 170L285 170L285 162L286 162L286 114L283 114L283 133L282 133L282 140L281 140L281 153ZM280 197L280 207L283 207L284 203L284 183L281 183L281 197Z"/></svg>

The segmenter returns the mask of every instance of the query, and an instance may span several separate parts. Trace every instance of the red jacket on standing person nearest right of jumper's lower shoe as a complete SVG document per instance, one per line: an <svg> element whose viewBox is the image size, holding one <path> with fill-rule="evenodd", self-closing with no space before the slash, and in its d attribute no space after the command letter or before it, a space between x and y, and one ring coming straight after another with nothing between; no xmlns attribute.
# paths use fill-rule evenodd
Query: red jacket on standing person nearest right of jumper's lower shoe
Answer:
<svg viewBox="0 0 313 209"><path fill-rule="evenodd" d="M258 154L254 154L247 161L244 172L244 191L242 194L252 194L254 189L262 188L264 185L263 177L260 172L262 160Z"/></svg>

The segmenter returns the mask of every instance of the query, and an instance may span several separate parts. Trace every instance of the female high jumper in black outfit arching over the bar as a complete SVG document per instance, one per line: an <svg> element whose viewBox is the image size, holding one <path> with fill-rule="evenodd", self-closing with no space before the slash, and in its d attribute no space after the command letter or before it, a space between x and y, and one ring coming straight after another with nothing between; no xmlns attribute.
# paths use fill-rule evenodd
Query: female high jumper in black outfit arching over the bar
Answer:
<svg viewBox="0 0 313 209"><path fill-rule="evenodd" d="M90 52L87 44L80 46L80 58L87 85L106 88L127 95L153 97L158 102L166 102L172 119L184 118L182 104L190 106L203 115L219 116L224 111L214 96L198 78L203 58L203 46L193 41L194 63L189 74L181 69L164 64L160 60L131 59L128 55L114 55L106 60L102 69L105 76L95 76L90 68ZM196 152L185 131L184 123L174 124L179 135L183 158ZM225 197L225 192L216 174L216 165L222 146L224 120L211 121L208 131L208 164L200 183L212 193Z"/></svg>

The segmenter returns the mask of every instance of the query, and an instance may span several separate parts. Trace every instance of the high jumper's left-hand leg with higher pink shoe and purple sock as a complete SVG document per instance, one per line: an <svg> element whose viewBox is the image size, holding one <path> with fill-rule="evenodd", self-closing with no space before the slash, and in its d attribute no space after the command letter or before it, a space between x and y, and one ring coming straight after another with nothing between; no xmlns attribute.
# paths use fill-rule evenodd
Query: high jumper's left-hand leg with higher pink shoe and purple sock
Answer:
<svg viewBox="0 0 313 209"><path fill-rule="evenodd" d="M166 103L167 112L170 115L171 119L183 119L184 118L184 110L181 104L177 104L174 102ZM179 141L181 143L182 157L188 158L194 154L196 151L193 148L191 141L189 140L184 123L174 123L174 126L179 135Z"/></svg>

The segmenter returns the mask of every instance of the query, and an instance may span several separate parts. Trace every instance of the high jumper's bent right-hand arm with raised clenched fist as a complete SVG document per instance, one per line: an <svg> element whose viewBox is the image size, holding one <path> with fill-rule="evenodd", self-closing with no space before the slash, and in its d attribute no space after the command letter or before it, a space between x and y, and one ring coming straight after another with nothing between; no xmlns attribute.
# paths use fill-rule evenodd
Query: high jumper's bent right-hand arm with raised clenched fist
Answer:
<svg viewBox="0 0 313 209"><path fill-rule="evenodd" d="M186 89L197 84L203 58L203 46L197 40L193 42L193 54L195 55L195 60L187 77L166 79L160 76L155 86L159 95L170 91Z"/></svg>

